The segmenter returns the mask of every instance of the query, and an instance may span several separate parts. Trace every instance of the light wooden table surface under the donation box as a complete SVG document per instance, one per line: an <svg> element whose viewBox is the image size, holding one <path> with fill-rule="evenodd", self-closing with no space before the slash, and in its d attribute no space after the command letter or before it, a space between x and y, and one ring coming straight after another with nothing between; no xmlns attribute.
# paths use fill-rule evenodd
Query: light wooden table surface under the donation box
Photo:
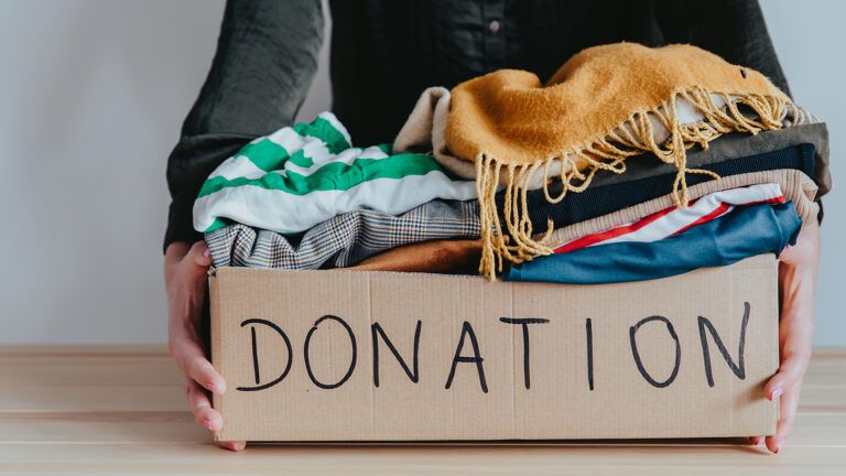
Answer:
<svg viewBox="0 0 846 476"><path fill-rule="evenodd" d="M846 475L846 349L818 350L781 454L740 441L216 448L161 347L0 347L0 474Z"/></svg>

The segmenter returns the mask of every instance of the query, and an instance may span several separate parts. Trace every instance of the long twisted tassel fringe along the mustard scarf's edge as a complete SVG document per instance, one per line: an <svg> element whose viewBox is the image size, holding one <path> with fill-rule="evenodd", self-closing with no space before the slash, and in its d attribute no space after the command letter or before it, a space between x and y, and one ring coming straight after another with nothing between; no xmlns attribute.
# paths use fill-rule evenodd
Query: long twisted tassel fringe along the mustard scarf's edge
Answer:
<svg viewBox="0 0 846 476"><path fill-rule="evenodd" d="M717 106L713 97L725 101ZM676 99L690 102L703 116L698 122L681 123L676 110ZM745 115L739 106L750 110ZM529 218L527 192L532 177L543 171L543 194L552 204L558 203L568 192L578 193L587 188L597 171L605 170L621 174L626 172L626 159L652 152L662 162L672 163L677 172L673 181L673 202L676 206L687 206L686 174L696 173L719 178L714 172L687 167L687 149L695 144L703 149L708 142L731 131L757 134L761 130L781 129L782 121L802 122L806 112L795 107L787 97L760 95L753 93L714 93L703 87L680 89L668 101L654 109L631 115L605 137L571 150L562 150L556 155L532 164L506 164L502 161L481 153L476 158L476 191L479 197L481 215L482 255L479 273L494 279L502 272L503 260L512 263L528 261L535 256L553 252L546 242L554 229L552 220L540 237L532 229ZM654 128L650 117L669 131L670 137L662 143L655 143ZM561 173L551 177L550 166L561 162ZM579 171L577 164L586 163ZM501 177L505 185L503 224L497 210L496 194ZM560 181L564 188L558 196L551 196L549 186Z"/></svg>

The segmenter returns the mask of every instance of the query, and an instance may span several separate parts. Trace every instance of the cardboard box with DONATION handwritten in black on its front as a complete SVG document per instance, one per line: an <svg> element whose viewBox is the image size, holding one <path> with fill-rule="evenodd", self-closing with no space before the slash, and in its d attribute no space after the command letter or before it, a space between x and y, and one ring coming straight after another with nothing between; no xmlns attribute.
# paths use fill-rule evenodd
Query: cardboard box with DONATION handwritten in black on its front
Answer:
<svg viewBox="0 0 846 476"><path fill-rule="evenodd" d="M772 434L778 263L637 283L224 268L218 440Z"/></svg>

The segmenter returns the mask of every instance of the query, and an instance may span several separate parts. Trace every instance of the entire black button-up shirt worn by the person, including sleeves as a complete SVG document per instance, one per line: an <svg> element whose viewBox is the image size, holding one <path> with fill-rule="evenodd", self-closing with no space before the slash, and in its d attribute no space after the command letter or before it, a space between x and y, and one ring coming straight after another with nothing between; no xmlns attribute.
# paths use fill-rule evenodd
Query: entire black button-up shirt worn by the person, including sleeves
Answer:
<svg viewBox="0 0 846 476"><path fill-rule="evenodd" d="M430 86L501 68L547 79L585 47L690 43L789 94L756 0L330 0L333 111L356 144L390 142ZM229 0L212 69L167 161L164 246L195 241L206 176L293 122L317 68L319 0Z"/></svg>

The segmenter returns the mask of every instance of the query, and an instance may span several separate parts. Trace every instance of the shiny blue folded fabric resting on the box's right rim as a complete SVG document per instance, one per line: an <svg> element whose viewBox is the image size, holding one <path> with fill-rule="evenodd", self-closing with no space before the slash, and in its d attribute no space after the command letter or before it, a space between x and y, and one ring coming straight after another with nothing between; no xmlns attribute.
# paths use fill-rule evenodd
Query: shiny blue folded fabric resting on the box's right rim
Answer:
<svg viewBox="0 0 846 476"><path fill-rule="evenodd" d="M618 242L539 257L503 281L601 284L644 281L731 264L793 245L802 219L791 202L737 207L713 221L653 242Z"/></svg>

